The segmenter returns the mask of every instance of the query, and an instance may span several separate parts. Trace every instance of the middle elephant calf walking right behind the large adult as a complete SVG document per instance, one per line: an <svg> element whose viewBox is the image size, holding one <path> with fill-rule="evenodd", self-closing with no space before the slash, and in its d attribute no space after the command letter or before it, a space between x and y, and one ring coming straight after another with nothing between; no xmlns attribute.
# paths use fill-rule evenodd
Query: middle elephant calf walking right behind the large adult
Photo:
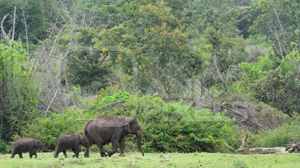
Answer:
<svg viewBox="0 0 300 168"><path fill-rule="evenodd" d="M76 158L78 158L80 145L86 147L86 149L89 149L89 142L86 136L71 133L60 135L55 142L56 152L54 158L57 158L60 152L63 152L64 156L67 157L67 149L71 149Z"/></svg>

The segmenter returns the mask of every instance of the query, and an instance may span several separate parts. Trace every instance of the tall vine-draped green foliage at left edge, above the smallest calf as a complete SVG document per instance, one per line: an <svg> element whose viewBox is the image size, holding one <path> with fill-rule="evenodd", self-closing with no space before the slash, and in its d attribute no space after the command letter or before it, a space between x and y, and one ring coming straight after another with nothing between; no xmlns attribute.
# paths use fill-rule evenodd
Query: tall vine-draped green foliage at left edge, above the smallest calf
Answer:
<svg viewBox="0 0 300 168"><path fill-rule="evenodd" d="M39 116L38 92L30 78L32 64L27 52L12 41L11 48L0 46L1 138L10 140L21 127Z"/></svg>

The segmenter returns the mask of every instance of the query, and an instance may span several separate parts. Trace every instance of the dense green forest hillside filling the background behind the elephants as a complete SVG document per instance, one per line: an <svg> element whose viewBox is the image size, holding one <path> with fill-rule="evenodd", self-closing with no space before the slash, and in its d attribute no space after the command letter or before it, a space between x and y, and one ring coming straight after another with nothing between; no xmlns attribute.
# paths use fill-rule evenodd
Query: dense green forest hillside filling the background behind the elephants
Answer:
<svg viewBox="0 0 300 168"><path fill-rule="evenodd" d="M145 152L300 138L299 0L0 0L0 21L3 154L104 114L136 117Z"/></svg>

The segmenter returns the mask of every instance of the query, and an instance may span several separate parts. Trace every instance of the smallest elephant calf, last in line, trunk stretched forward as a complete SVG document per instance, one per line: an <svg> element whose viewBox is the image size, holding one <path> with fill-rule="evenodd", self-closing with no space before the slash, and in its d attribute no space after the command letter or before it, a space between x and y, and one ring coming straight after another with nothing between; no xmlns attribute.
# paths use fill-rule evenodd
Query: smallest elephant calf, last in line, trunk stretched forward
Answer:
<svg viewBox="0 0 300 168"><path fill-rule="evenodd" d="M35 152L35 148L41 149L44 152L52 152L52 150L47 150L43 143L39 140L29 139L29 138L21 138L16 140L13 144L13 151L11 152L10 158L14 158L16 154L19 154L20 158L23 158L22 152L29 152L29 157L32 158L35 155L37 158L37 152Z"/></svg>

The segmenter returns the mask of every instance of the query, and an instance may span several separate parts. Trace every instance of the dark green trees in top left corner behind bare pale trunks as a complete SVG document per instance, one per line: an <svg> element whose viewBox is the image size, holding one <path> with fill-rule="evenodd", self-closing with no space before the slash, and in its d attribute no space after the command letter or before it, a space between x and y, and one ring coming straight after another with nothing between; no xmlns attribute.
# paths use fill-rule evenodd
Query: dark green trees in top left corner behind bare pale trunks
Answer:
<svg viewBox="0 0 300 168"><path fill-rule="evenodd" d="M59 13L54 9L54 6L56 5L58 5L56 2L48 0L0 0L1 20L4 15L9 13L7 18L3 22L5 32L8 33L13 28L13 12L14 7L16 6L14 40L18 39L20 35L22 42L26 44L25 24L23 22L24 18L22 16L22 13L24 11L26 25L29 32L28 40L29 42L31 42L30 44L32 44L29 44L29 49L35 50L37 46L35 46L34 44L37 44L39 40L44 40L47 37L48 28L52 28L53 24L56 21L56 17ZM23 11L21 8L23 8ZM61 19L58 19L58 21L61 21ZM56 26L60 28L59 25Z"/></svg>

